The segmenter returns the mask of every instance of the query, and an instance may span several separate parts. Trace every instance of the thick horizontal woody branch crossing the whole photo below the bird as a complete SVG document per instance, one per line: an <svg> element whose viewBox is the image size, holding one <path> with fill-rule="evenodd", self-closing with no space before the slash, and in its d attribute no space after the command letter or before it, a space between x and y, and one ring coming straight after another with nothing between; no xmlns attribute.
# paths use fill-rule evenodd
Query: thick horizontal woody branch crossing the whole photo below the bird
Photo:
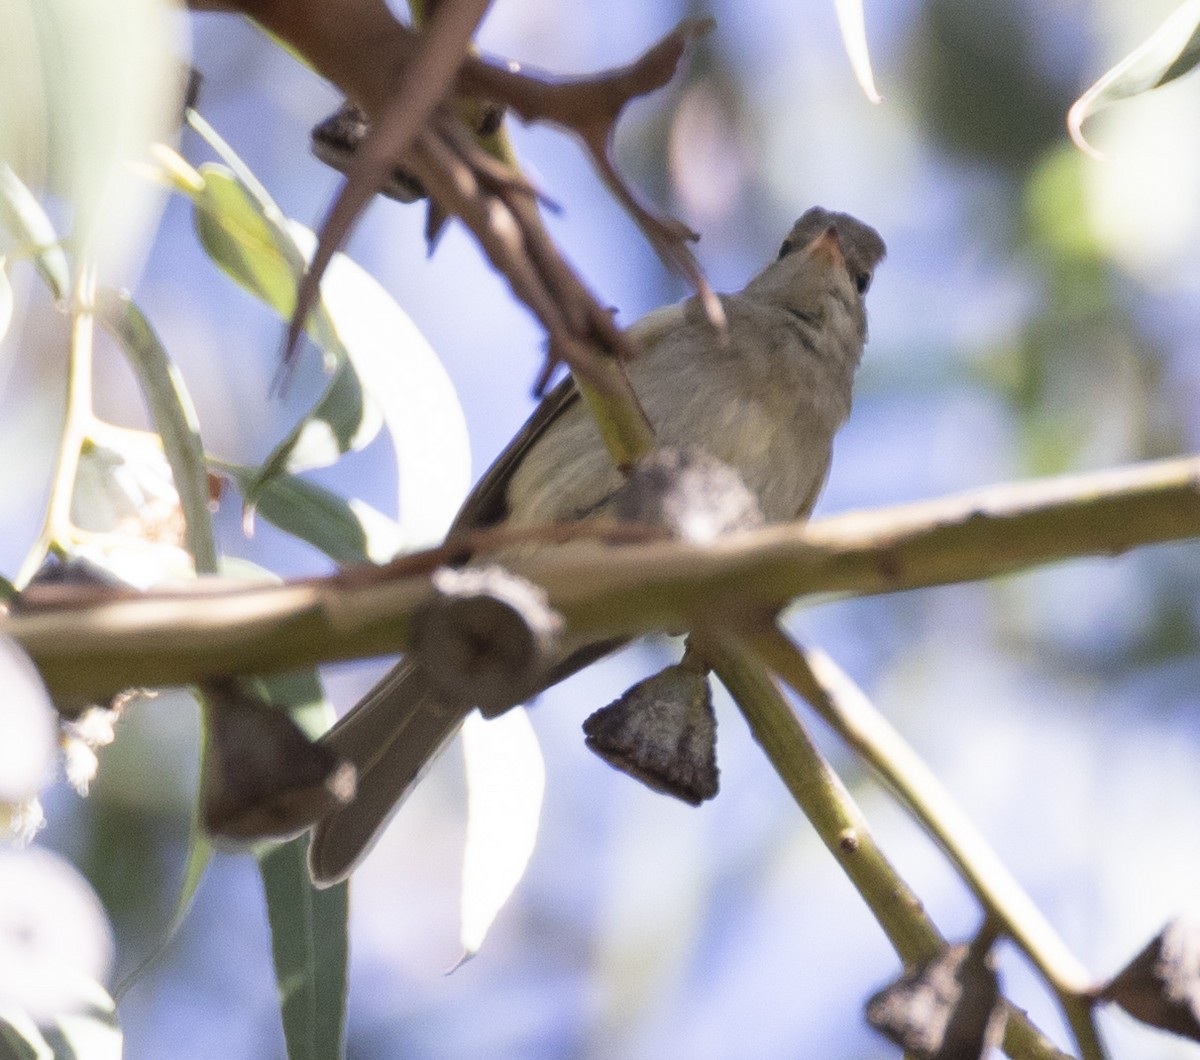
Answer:
<svg viewBox="0 0 1200 1060"><path fill-rule="evenodd" d="M602 538L602 528L564 528ZM545 537L545 534L542 534ZM628 532L626 532L628 537ZM512 569L540 586L568 633L635 635L761 622L817 593L871 594L973 581L1079 556L1200 537L1200 457L996 486L769 527L710 546L547 544ZM514 534L478 534L476 553ZM202 581L190 592L71 591L6 619L52 691L104 696L402 651L432 599L436 550L383 568L283 586Z"/></svg>

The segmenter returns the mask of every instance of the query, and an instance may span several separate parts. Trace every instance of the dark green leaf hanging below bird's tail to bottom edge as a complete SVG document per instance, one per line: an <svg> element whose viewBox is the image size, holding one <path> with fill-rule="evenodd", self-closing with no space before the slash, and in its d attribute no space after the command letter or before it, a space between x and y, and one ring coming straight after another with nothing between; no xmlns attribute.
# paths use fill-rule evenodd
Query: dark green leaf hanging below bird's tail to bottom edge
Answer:
<svg viewBox="0 0 1200 1060"><path fill-rule="evenodd" d="M346 1022L349 886L318 890L308 836L259 855L288 1060L338 1060Z"/></svg>

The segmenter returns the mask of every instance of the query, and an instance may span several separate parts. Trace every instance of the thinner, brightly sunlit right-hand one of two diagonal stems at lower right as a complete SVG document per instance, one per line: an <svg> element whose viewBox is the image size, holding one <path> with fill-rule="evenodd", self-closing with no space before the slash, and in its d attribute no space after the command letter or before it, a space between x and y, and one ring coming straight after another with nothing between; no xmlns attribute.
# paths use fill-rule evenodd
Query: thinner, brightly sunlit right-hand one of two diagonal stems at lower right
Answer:
<svg viewBox="0 0 1200 1060"><path fill-rule="evenodd" d="M988 916L1025 952L1058 996L1085 1060L1102 1060L1088 1000L1091 977L942 783L823 653L798 648L778 628L756 634L763 661L803 696L895 791L949 857Z"/></svg>

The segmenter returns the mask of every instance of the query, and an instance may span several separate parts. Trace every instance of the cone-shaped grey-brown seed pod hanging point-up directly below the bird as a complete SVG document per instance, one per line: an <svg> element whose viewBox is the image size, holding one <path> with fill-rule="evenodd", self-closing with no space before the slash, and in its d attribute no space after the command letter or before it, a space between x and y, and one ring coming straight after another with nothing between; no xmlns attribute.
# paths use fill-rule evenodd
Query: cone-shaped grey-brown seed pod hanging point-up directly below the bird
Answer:
<svg viewBox="0 0 1200 1060"><path fill-rule="evenodd" d="M718 791L716 715L703 672L667 666L583 723L587 745L610 766L700 806Z"/></svg>

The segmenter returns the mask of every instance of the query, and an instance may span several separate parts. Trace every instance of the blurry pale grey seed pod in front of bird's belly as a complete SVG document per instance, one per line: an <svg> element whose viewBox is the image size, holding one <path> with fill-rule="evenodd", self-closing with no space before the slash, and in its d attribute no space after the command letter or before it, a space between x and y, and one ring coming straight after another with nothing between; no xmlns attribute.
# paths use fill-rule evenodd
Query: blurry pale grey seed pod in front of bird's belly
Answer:
<svg viewBox="0 0 1200 1060"><path fill-rule="evenodd" d="M762 525L738 473L702 449L659 449L637 465L613 497L622 522L662 527L685 541L712 541Z"/></svg>

